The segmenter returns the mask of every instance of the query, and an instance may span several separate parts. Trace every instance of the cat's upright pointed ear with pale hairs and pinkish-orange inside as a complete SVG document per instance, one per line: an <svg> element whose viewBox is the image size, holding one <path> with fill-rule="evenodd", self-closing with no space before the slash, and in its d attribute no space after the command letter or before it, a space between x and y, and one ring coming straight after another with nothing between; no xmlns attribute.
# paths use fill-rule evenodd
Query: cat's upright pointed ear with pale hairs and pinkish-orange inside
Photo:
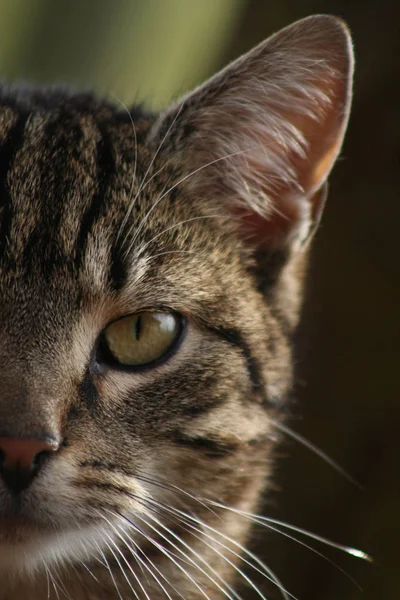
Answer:
<svg viewBox="0 0 400 600"><path fill-rule="evenodd" d="M351 39L313 16L278 32L162 114L149 139L180 153L185 185L225 204L256 246L315 228L347 125Z"/></svg>

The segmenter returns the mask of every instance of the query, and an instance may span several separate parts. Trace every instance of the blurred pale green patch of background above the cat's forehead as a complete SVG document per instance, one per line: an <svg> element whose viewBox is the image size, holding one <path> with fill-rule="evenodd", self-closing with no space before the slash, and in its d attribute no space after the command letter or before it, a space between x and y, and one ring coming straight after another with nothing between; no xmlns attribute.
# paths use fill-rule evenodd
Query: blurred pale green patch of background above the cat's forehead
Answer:
<svg viewBox="0 0 400 600"><path fill-rule="evenodd" d="M161 107L215 67L245 0L0 0L6 79Z"/></svg>

